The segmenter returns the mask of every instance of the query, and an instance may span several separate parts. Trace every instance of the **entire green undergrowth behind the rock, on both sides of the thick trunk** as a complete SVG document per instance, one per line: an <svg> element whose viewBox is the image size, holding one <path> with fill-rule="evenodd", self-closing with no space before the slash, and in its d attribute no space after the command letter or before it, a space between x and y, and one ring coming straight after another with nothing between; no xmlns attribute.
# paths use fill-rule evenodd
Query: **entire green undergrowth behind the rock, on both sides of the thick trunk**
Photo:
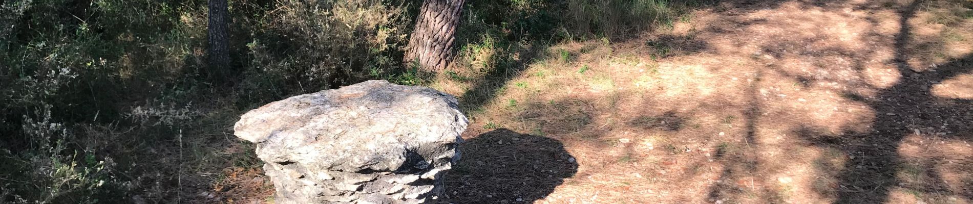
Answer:
<svg viewBox="0 0 973 204"><path fill-rule="evenodd" d="M214 78L204 70L205 1L4 1L0 203L231 199L200 192L228 184L227 169L260 167L232 135L243 111L367 79L437 80L401 64L419 4L230 1L233 64ZM698 5L471 0L454 69L439 75L465 82L464 108L477 111L502 79L556 56L552 44L626 40Z"/></svg>

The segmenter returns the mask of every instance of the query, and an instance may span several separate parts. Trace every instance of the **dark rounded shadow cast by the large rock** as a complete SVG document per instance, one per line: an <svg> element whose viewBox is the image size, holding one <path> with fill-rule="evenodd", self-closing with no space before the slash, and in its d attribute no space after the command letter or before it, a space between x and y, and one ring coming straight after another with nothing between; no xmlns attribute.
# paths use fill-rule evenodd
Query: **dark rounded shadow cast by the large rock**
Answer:
<svg viewBox="0 0 973 204"><path fill-rule="evenodd" d="M532 203L578 172L557 139L507 129L480 134L459 150L443 203Z"/></svg>

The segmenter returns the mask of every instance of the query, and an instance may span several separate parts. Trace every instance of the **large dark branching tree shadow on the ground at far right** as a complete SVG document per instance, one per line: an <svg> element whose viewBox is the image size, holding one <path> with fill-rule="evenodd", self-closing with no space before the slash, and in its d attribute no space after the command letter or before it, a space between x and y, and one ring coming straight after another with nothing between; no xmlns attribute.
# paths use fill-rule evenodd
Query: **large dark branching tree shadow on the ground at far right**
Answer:
<svg viewBox="0 0 973 204"><path fill-rule="evenodd" d="M837 135L809 127L793 131L812 145L840 150L849 158L844 168L836 174L837 184L831 187L831 192L823 192L836 196L835 203L885 203L891 189L895 188L916 189L918 193L958 193L966 199L973 199L969 190L949 192L951 190L935 170L925 172L924 175L931 175L932 179L921 184L907 184L897 177L903 166L908 165L899 151L906 136L927 127L941 129L939 132L945 134L921 132L924 134L918 136L962 141L973 136L970 134L973 132L973 101L938 98L931 91L932 85L970 73L973 70L973 56L967 55L937 69L925 71L919 71L921 69L908 63L912 53L908 44L913 36L908 21L916 14L920 2L914 1L900 11L900 30L895 37L895 56L891 62L896 66L899 80L891 87L880 90L874 98L854 93L843 94L847 100L862 102L875 111L872 129L863 132L846 130ZM964 188L970 186L960 185Z"/></svg>

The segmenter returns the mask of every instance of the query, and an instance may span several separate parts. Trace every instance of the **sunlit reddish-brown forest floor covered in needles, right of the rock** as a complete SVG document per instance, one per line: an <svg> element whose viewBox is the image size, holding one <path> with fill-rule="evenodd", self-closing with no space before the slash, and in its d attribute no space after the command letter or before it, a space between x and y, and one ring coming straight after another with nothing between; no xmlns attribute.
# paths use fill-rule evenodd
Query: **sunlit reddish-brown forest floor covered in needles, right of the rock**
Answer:
<svg viewBox="0 0 973 204"><path fill-rule="evenodd" d="M960 5L724 1L543 52L431 84L471 119L444 203L973 203Z"/></svg>

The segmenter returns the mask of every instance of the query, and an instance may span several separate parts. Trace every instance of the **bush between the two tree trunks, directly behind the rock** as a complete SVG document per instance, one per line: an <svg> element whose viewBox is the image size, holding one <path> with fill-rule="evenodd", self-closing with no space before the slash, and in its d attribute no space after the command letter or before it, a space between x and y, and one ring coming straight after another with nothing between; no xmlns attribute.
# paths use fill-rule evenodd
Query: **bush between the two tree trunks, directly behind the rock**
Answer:
<svg viewBox="0 0 973 204"><path fill-rule="evenodd" d="M245 81L294 94L399 70L411 17L404 2L281 1L246 46ZM276 85L271 85L276 84ZM257 89L258 91L261 91Z"/></svg>

